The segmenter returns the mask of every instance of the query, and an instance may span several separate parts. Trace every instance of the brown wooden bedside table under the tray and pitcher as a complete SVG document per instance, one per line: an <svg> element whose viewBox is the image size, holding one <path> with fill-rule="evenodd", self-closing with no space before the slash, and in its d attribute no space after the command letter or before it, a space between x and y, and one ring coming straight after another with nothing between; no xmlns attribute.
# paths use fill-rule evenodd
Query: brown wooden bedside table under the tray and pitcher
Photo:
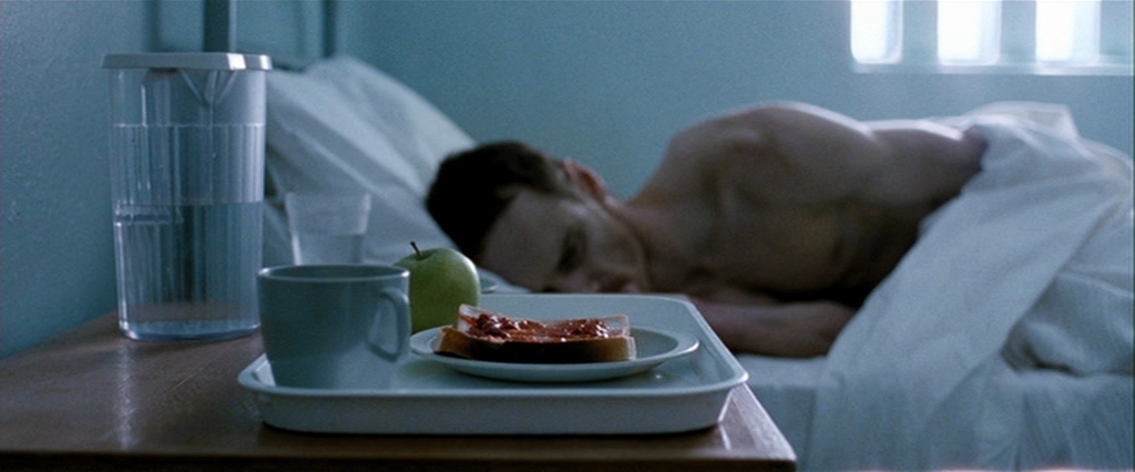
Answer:
<svg viewBox="0 0 1135 472"><path fill-rule="evenodd" d="M308 435L263 424L236 376L260 335L140 343L109 313L0 361L0 470L793 470L745 385L724 420L642 436Z"/></svg>

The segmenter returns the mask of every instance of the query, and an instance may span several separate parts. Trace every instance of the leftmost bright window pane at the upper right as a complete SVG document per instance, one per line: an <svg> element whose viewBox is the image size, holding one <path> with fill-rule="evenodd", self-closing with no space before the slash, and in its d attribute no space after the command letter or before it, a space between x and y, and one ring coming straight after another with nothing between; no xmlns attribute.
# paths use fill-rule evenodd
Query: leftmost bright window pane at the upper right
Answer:
<svg viewBox="0 0 1135 472"><path fill-rule="evenodd" d="M851 54L855 60L897 62L901 51L902 0L852 0Z"/></svg>

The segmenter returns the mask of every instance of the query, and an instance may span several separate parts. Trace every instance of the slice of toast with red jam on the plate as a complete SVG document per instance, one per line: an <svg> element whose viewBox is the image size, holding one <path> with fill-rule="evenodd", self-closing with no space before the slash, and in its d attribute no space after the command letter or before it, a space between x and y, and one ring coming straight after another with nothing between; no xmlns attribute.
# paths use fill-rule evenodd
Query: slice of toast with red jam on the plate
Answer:
<svg viewBox="0 0 1135 472"><path fill-rule="evenodd" d="M575 364L634 359L625 314L566 320L512 318L462 305L454 326L442 328L438 354L478 361Z"/></svg>

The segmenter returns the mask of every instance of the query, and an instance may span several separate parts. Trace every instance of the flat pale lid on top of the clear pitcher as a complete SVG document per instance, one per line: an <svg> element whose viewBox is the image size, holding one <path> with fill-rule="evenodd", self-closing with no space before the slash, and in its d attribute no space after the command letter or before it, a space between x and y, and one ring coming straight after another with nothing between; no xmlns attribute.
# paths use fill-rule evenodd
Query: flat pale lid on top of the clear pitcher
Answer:
<svg viewBox="0 0 1135 472"><path fill-rule="evenodd" d="M270 70L272 59L264 54L236 52L143 52L107 54L106 69L202 69Z"/></svg>

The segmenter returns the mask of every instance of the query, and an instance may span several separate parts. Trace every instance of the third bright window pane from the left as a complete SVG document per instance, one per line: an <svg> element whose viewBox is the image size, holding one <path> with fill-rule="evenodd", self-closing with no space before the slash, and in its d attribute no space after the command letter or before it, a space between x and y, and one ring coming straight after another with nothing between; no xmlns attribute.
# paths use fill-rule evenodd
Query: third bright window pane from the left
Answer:
<svg viewBox="0 0 1135 472"><path fill-rule="evenodd" d="M1099 0L1036 1L1036 60L1088 64L1099 51Z"/></svg>

